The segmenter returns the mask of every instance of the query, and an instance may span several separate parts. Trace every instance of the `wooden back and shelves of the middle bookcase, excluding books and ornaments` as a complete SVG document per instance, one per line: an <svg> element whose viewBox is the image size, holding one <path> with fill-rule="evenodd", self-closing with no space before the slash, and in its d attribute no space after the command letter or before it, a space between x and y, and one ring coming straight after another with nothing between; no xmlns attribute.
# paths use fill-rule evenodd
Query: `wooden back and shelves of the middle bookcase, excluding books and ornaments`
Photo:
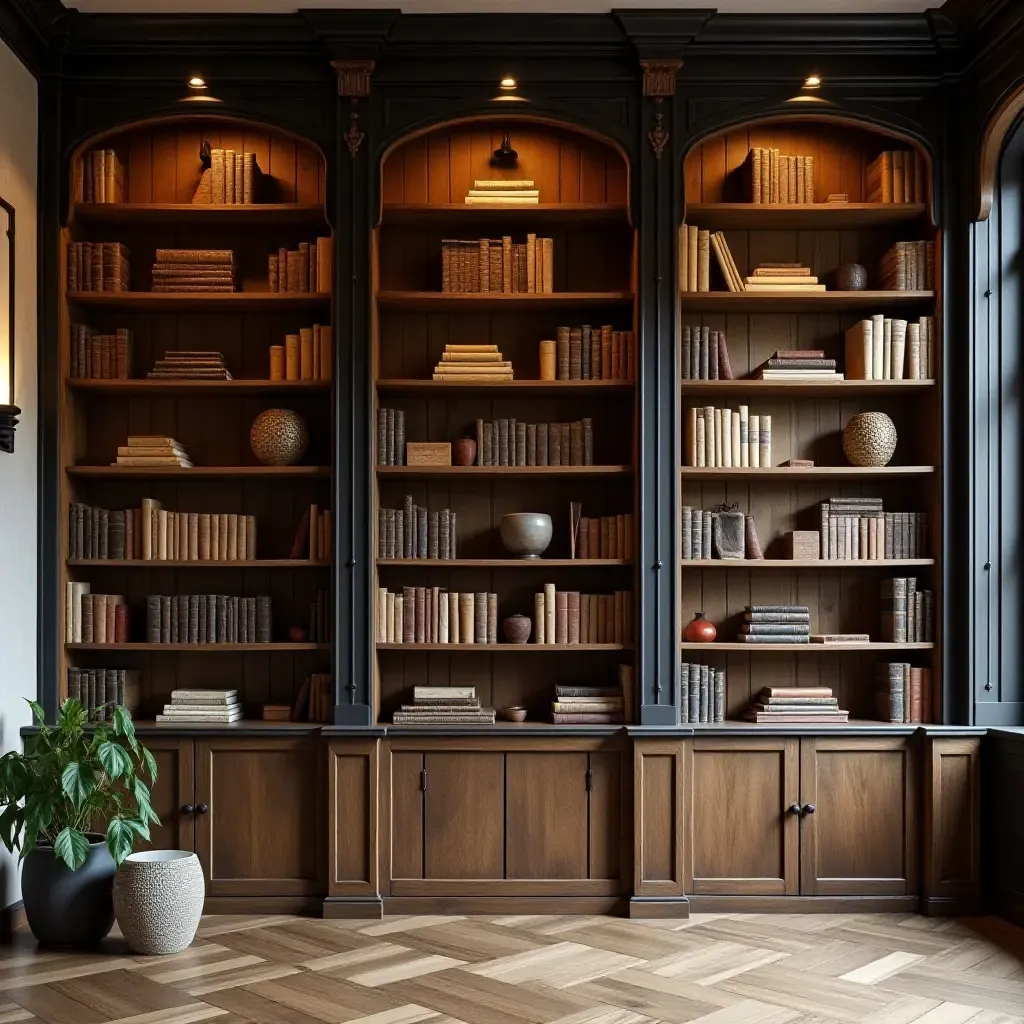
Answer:
<svg viewBox="0 0 1024 1024"><path fill-rule="evenodd" d="M518 154L514 167L493 162L504 131ZM480 179L531 180L539 202L467 205ZM530 233L552 240L553 291L442 290L442 242L526 243ZM632 543L629 557L586 559L572 557L570 543L573 502L585 517L629 514L636 523L635 374L548 380L541 379L540 362L541 342L554 341L559 327L610 326L637 337L626 158L611 144L536 118L456 123L417 135L384 159L373 252L372 437L386 409L402 414L407 442L476 438L478 420L547 425L590 418L593 424L588 465L375 466L371 518L379 557L371 601L383 591L400 595L403 587L498 596L497 643L388 641L375 614L375 717L390 723L401 705L412 703L417 685L472 685L486 707L522 706L527 723L550 723L557 684L614 686L620 667L634 666L632 641L538 644L535 633L517 645L502 632L510 615L534 617L535 595L545 585L585 595L624 592L635 600ZM465 343L496 345L512 364L513 379L434 380L445 346ZM401 509L406 496L455 513L455 557L385 557L381 510ZM551 516L552 541L541 558L505 550L500 524L515 512ZM627 720L635 720L635 710Z"/></svg>

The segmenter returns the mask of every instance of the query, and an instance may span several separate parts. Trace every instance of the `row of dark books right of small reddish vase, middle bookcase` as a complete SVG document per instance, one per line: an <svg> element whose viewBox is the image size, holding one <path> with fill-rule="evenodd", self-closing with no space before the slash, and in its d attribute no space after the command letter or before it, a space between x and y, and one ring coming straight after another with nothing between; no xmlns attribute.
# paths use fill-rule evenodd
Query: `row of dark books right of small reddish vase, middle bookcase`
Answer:
<svg viewBox="0 0 1024 1024"><path fill-rule="evenodd" d="M478 466L593 466L594 426L585 416L571 423L523 423L502 417L476 421Z"/></svg>

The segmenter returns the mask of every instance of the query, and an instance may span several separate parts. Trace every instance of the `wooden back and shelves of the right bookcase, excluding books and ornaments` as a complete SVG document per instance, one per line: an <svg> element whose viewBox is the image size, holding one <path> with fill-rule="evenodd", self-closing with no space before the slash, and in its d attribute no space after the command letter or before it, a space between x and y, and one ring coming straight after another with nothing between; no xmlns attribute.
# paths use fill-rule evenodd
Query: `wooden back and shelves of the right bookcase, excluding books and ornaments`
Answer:
<svg viewBox="0 0 1024 1024"><path fill-rule="evenodd" d="M752 148L811 157L814 202L753 202ZM868 182L887 151L910 153L918 168L912 202L880 202ZM916 153L916 156L913 154ZM681 387L681 506L715 510L735 505L753 516L764 555L726 560L701 551L680 565L680 659L725 670L725 719L739 720L764 686L829 686L850 719L880 720L876 666L902 662L930 669L941 722L941 613L943 573L940 406L942 354L941 239L932 218L929 157L906 139L827 118L787 118L739 126L691 150L683 168L683 218L687 225L724 232L742 278L759 264L798 264L826 285L824 291L729 291L714 246L706 291L680 286L682 365L685 326L724 332L734 379L683 379ZM845 196L846 202L826 202ZM781 197L780 197L781 198ZM901 241L935 244L934 289L891 291L880 263ZM687 255L689 255L687 253ZM683 257L681 254L681 264ZM844 263L867 270L864 290L839 290ZM845 332L873 314L935 323L933 372L927 379L761 380L756 371L776 350L822 349L844 371ZM685 377L684 373L684 377ZM770 417L770 468L691 465L685 429L693 409L715 407ZM884 467L851 466L842 447L843 427L861 412L886 413L898 440ZM811 466L792 466L804 460ZM924 550L867 560L802 557L791 531L818 531L820 503L829 498L879 498L884 509L928 515ZM681 510L677 522L682 530ZM681 545L682 547L682 545ZM791 553L797 557L788 557ZM894 643L881 628L884 580L909 577L935 592L934 641ZM748 605L797 605L810 611L812 634L866 634L868 642L752 645L737 634ZM684 629L702 611L718 630L715 642L690 643Z"/></svg>

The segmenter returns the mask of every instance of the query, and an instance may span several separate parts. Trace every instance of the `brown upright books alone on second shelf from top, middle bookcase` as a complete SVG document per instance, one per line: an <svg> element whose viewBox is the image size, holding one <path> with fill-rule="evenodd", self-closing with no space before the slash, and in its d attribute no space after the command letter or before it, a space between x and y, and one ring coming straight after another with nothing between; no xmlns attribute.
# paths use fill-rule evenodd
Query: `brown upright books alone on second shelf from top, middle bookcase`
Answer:
<svg viewBox="0 0 1024 1024"><path fill-rule="evenodd" d="M526 236L441 240L442 292L550 294L555 290L555 241Z"/></svg>

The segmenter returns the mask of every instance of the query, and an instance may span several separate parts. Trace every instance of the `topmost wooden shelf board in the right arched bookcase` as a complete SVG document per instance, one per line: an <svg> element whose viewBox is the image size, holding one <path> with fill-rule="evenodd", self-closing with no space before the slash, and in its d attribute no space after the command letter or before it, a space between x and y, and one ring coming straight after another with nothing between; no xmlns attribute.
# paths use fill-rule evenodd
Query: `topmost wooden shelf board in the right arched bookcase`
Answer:
<svg viewBox="0 0 1024 1024"><path fill-rule="evenodd" d="M686 221L714 229L825 231L902 224L926 213L924 203L689 203Z"/></svg>

